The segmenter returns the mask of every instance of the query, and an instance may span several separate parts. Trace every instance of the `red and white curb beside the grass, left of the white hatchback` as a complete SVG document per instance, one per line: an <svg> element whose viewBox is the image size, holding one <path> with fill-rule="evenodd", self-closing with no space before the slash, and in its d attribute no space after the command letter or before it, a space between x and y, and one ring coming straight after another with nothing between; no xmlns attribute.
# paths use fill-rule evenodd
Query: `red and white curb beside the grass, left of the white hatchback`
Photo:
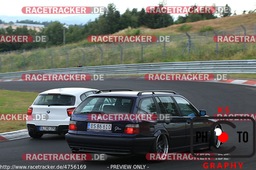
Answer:
<svg viewBox="0 0 256 170"><path fill-rule="evenodd" d="M4 133L0 133L0 142L7 141L7 140L28 138L28 137L29 137L29 134L28 134L27 129L11 131L11 132L4 132Z"/></svg>

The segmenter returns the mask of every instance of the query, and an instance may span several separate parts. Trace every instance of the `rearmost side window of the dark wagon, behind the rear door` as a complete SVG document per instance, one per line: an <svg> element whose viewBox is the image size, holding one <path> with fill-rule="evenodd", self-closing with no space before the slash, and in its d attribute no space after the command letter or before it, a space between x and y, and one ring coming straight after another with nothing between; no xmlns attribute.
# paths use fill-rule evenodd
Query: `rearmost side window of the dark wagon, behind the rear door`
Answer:
<svg viewBox="0 0 256 170"><path fill-rule="evenodd" d="M140 99L138 114L156 114L156 105L152 97Z"/></svg>

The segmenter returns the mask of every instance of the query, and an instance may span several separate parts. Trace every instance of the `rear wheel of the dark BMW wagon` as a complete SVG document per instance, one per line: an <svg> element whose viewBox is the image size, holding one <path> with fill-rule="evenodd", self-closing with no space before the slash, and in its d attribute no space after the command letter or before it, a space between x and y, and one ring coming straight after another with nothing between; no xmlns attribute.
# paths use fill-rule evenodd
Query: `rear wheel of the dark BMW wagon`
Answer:
<svg viewBox="0 0 256 170"><path fill-rule="evenodd" d="M164 160L166 159L167 153L168 153L169 145L168 145L168 139L166 135L160 134L154 144L152 145L152 148L150 150L151 153L164 153L162 154L161 158ZM159 160L159 162L162 162L163 160Z"/></svg>

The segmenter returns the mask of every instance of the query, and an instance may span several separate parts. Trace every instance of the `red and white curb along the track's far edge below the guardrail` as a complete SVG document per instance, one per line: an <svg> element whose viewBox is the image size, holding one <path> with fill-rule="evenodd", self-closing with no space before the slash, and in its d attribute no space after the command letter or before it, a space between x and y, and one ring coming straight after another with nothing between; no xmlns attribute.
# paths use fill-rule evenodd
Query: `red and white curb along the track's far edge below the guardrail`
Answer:
<svg viewBox="0 0 256 170"><path fill-rule="evenodd" d="M107 80L145 80L144 76L122 76L122 77L106 77ZM7 79L0 81L23 81L22 79ZM228 79L228 80L211 80L204 82L218 82L218 83L230 83L230 84L241 84L241 85L250 85L256 86L256 81L250 80L236 80L236 79Z"/></svg>

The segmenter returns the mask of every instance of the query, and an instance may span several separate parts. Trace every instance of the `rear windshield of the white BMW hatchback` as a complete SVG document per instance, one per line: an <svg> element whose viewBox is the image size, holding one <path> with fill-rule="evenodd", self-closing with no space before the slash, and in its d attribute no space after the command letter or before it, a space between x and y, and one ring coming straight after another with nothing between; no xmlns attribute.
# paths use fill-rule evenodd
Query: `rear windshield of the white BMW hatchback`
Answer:
<svg viewBox="0 0 256 170"><path fill-rule="evenodd" d="M33 105L73 106L76 97L69 95L39 95Z"/></svg>

